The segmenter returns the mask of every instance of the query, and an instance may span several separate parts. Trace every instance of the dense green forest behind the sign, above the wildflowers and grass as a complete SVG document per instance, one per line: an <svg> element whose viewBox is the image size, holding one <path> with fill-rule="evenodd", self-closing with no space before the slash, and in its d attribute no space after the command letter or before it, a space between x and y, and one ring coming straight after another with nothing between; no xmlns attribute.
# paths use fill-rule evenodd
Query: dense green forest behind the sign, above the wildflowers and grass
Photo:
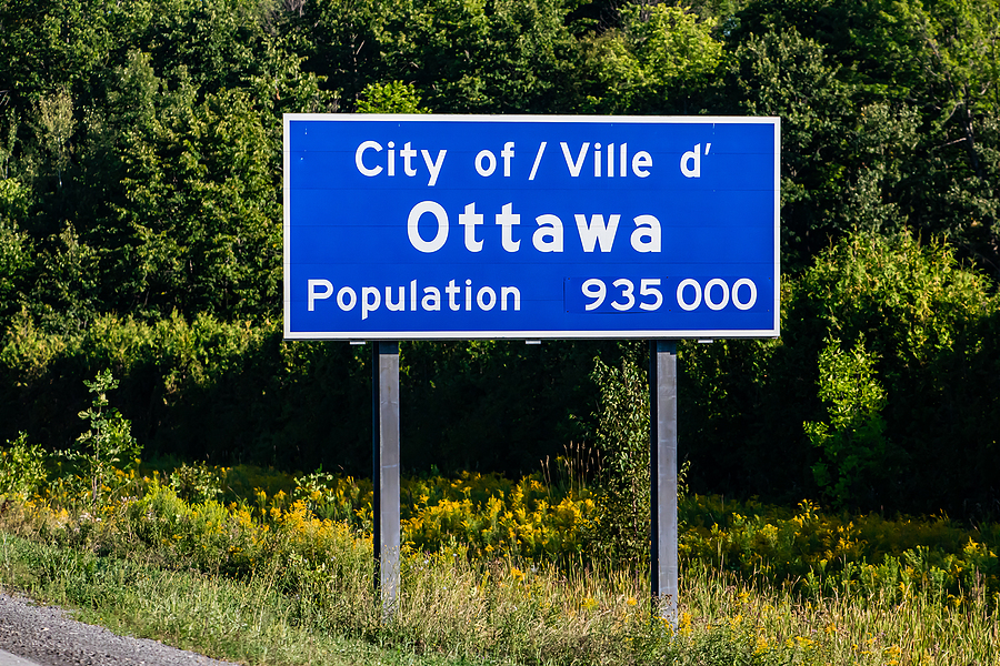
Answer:
<svg viewBox="0 0 1000 666"><path fill-rule="evenodd" d="M368 352L281 340L286 112L780 117L782 337L681 345L691 488L1000 512L997 0L0 0L0 442L110 367L147 455L367 473ZM599 448L644 353L404 343L403 465Z"/></svg>

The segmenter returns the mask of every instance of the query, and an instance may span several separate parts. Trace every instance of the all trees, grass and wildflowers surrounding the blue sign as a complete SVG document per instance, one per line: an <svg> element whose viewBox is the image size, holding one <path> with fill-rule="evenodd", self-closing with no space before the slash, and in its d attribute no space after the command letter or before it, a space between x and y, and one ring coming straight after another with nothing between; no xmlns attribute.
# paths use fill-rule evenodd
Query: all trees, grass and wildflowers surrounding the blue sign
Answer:
<svg viewBox="0 0 1000 666"><path fill-rule="evenodd" d="M253 664L1000 663L997 0L0 0L0 585ZM288 112L781 119L781 337L286 342ZM297 472L298 471L298 472Z"/></svg>

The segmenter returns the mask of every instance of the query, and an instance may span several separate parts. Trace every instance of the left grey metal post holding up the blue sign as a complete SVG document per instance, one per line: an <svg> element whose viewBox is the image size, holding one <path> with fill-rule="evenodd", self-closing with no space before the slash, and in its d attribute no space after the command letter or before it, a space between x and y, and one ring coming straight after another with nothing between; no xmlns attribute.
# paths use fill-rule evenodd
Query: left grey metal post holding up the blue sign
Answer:
<svg viewBox="0 0 1000 666"><path fill-rule="evenodd" d="M372 548L382 615L388 617L399 592L399 343L371 346Z"/></svg>

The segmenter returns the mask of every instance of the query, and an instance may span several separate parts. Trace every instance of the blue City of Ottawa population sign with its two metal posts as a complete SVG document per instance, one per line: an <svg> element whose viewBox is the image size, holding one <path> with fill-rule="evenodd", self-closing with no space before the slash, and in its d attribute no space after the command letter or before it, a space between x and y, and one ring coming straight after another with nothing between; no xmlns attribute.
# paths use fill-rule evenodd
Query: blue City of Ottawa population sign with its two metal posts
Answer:
<svg viewBox="0 0 1000 666"><path fill-rule="evenodd" d="M380 343L387 608L396 342L648 339L651 581L676 614L673 341L778 336L779 147L777 118L284 117L284 337Z"/></svg>

